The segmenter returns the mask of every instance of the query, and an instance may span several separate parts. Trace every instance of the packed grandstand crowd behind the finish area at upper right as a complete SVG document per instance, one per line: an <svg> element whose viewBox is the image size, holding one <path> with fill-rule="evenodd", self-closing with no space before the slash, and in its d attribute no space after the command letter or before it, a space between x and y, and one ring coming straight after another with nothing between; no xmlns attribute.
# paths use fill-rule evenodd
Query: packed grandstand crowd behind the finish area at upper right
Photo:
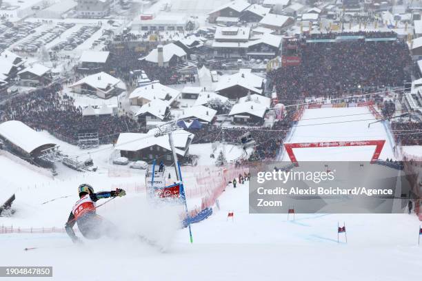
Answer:
<svg viewBox="0 0 422 281"><path fill-rule="evenodd" d="M312 35L330 39L362 32ZM390 32L368 32L365 36L391 37ZM297 41L297 66L283 66L268 73L283 103L295 103L308 96L336 98L345 94L376 92L379 88L403 87L410 81L405 67L412 65L408 47L403 41L339 41L305 43ZM291 51L291 50L290 50Z"/></svg>

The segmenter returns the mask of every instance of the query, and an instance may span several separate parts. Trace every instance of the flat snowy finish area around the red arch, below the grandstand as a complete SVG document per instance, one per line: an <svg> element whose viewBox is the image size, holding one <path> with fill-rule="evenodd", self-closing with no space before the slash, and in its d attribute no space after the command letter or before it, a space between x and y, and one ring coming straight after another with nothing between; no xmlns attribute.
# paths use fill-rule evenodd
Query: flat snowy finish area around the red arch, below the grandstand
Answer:
<svg viewBox="0 0 422 281"><path fill-rule="evenodd" d="M368 107L308 109L303 112L297 127L293 127L292 136L286 143L385 140L379 158L395 159L394 143L392 143L393 138L390 132L385 130L383 123L374 122L376 122L376 119L372 116ZM374 146L319 147L293 149L293 152L298 161L369 161L374 154L374 149ZM287 154L283 154L282 160L288 161L290 159Z"/></svg>

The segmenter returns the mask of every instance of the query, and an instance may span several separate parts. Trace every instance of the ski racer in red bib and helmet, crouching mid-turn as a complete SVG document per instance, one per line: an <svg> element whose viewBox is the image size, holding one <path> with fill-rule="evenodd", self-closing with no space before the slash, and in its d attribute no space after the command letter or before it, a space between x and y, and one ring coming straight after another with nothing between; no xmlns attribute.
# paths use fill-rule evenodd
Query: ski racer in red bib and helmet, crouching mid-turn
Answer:
<svg viewBox="0 0 422 281"><path fill-rule="evenodd" d="M86 183L79 185L78 191L80 199L74 204L65 226L66 233L68 233L72 242L81 242L73 231L75 222L83 237L88 239L97 239L102 234L112 233L113 225L96 214L95 203L103 198L125 196L126 191L124 189L116 189L115 191L94 193L94 188Z"/></svg>

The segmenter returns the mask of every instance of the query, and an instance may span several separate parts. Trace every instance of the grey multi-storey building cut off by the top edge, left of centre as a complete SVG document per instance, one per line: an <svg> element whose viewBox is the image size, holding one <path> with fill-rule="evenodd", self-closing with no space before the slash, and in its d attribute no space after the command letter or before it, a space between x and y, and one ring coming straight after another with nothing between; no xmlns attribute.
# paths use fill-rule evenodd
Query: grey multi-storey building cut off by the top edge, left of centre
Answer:
<svg viewBox="0 0 422 281"><path fill-rule="evenodd" d="M114 0L78 0L77 17L101 18L110 14Z"/></svg>

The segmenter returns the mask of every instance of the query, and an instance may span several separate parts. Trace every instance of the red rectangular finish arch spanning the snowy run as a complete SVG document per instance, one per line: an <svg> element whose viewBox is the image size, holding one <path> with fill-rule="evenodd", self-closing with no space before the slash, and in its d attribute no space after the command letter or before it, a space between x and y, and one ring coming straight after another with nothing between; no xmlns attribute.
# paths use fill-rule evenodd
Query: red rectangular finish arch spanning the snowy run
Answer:
<svg viewBox="0 0 422 281"><path fill-rule="evenodd" d="M374 145L375 152L372 155L371 163L374 163L378 160L381 150L384 147L385 140L376 140L376 141L325 141L319 143L285 143L285 152L287 152L290 160L294 165L299 165L297 158L294 155L294 148L309 148L309 147L355 147L355 146L368 146Z"/></svg>

